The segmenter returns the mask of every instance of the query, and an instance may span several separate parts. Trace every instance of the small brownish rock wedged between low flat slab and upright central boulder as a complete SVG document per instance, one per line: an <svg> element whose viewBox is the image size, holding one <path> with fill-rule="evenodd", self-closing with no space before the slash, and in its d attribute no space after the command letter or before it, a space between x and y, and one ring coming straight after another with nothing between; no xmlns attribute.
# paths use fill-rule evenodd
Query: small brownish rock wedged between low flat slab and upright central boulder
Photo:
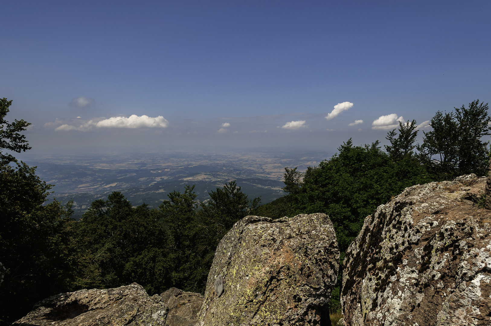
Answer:
<svg viewBox="0 0 491 326"><path fill-rule="evenodd" d="M202 295L170 288L160 296L169 308L165 326L193 326L196 324L199 309L203 305Z"/></svg>

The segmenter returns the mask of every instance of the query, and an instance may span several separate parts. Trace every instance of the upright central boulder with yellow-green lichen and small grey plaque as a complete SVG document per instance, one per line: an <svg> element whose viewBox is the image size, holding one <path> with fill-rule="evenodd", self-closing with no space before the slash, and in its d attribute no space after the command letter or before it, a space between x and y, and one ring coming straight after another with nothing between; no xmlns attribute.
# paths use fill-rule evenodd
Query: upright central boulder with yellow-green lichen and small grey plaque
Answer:
<svg viewBox="0 0 491 326"><path fill-rule="evenodd" d="M327 215L247 216L217 247L197 325L315 325L329 318L326 304L338 270L339 250ZM218 297L219 274L223 293Z"/></svg>

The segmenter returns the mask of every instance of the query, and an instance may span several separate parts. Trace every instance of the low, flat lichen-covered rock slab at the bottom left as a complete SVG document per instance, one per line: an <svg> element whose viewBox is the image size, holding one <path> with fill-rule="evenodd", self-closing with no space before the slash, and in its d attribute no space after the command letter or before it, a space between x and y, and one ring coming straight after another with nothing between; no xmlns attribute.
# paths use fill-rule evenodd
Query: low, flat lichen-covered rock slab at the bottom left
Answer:
<svg viewBox="0 0 491 326"><path fill-rule="evenodd" d="M39 301L16 326L164 326L167 306L132 283L115 289L61 293Z"/></svg>

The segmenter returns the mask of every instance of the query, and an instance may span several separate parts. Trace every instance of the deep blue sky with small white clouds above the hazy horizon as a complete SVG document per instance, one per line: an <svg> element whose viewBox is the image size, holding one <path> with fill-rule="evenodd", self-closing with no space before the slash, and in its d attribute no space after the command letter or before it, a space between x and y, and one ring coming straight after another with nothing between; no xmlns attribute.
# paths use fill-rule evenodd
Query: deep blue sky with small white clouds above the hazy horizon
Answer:
<svg viewBox="0 0 491 326"><path fill-rule="evenodd" d="M37 152L335 151L490 101L490 1L1 7L0 97L14 100L8 120L33 124Z"/></svg>

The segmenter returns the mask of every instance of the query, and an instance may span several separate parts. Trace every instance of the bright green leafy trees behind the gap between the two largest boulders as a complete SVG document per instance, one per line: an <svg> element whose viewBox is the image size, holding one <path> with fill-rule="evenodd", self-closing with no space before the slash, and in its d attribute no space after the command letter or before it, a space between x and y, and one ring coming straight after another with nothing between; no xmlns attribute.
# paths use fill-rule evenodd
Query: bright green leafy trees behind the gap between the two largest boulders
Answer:
<svg viewBox="0 0 491 326"><path fill-rule="evenodd" d="M293 208L291 215L326 213L341 250L345 250L360 231L364 217L412 183L427 180L415 159L406 156L396 164L378 141L354 146L350 138L338 150L339 154L308 168L300 191L287 198ZM285 179L291 171L287 170Z"/></svg>

